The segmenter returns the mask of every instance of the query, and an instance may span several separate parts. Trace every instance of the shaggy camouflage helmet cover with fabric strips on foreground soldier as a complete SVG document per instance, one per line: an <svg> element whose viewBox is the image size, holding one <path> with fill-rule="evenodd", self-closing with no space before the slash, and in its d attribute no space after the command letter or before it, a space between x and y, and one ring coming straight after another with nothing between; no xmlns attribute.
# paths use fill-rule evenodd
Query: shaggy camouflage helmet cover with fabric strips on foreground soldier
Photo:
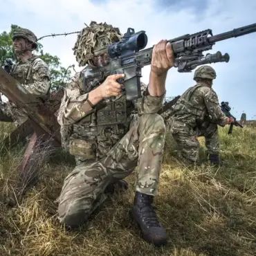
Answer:
<svg viewBox="0 0 256 256"><path fill-rule="evenodd" d="M72 49L75 59L79 66L90 64L93 57L107 53L107 46L120 41L122 37L118 28L113 28L106 23L97 24L91 21L90 26L83 28L77 36L77 42Z"/></svg>

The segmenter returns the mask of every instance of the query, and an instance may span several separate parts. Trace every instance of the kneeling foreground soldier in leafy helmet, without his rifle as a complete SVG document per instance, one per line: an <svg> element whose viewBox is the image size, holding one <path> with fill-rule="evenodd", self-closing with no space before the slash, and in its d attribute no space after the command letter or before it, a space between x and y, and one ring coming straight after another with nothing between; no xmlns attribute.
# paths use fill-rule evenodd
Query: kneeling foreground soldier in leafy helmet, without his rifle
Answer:
<svg viewBox="0 0 256 256"><path fill-rule="evenodd" d="M143 98L134 102L121 94L116 80L122 74L83 80L87 69L108 64L107 46L121 38L118 28L95 22L77 37L77 62L87 66L65 90L58 114L63 146L75 156L77 166L64 181L58 214L67 227L80 226L108 198L112 185L127 187L122 179L138 165L130 214L143 238L161 246L167 235L152 206L165 143L165 124L157 112L165 97L167 71L174 64L172 46L166 40L154 46L149 85Z"/></svg>

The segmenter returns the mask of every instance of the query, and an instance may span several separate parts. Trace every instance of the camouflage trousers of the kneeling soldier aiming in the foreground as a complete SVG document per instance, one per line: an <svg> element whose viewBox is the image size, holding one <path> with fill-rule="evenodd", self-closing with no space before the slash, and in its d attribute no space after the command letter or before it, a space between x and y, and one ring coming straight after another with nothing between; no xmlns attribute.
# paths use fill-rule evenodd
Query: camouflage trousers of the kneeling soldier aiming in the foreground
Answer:
<svg viewBox="0 0 256 256"><path fill-rule="evenodd" d="M156 195L161 172L165 124L158 114L144 114L106 156L77 165L68 174L57 199L61 223L75 228L106 199L104 190L138 166L136 191Z"/></svg>

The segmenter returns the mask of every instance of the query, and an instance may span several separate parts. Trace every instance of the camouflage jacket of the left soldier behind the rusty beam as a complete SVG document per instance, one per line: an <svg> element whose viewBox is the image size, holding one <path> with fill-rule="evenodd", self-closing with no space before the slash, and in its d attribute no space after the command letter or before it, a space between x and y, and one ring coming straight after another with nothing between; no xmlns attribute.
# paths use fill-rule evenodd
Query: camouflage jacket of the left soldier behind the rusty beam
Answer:
<svg viewBox="0 0 256 256"><path fill-rule="evenodd" d="M48 65L38 56L33 56L27 62L17 62L10 71L29 93L44 96L50 90L50 71Z"/></svg>

